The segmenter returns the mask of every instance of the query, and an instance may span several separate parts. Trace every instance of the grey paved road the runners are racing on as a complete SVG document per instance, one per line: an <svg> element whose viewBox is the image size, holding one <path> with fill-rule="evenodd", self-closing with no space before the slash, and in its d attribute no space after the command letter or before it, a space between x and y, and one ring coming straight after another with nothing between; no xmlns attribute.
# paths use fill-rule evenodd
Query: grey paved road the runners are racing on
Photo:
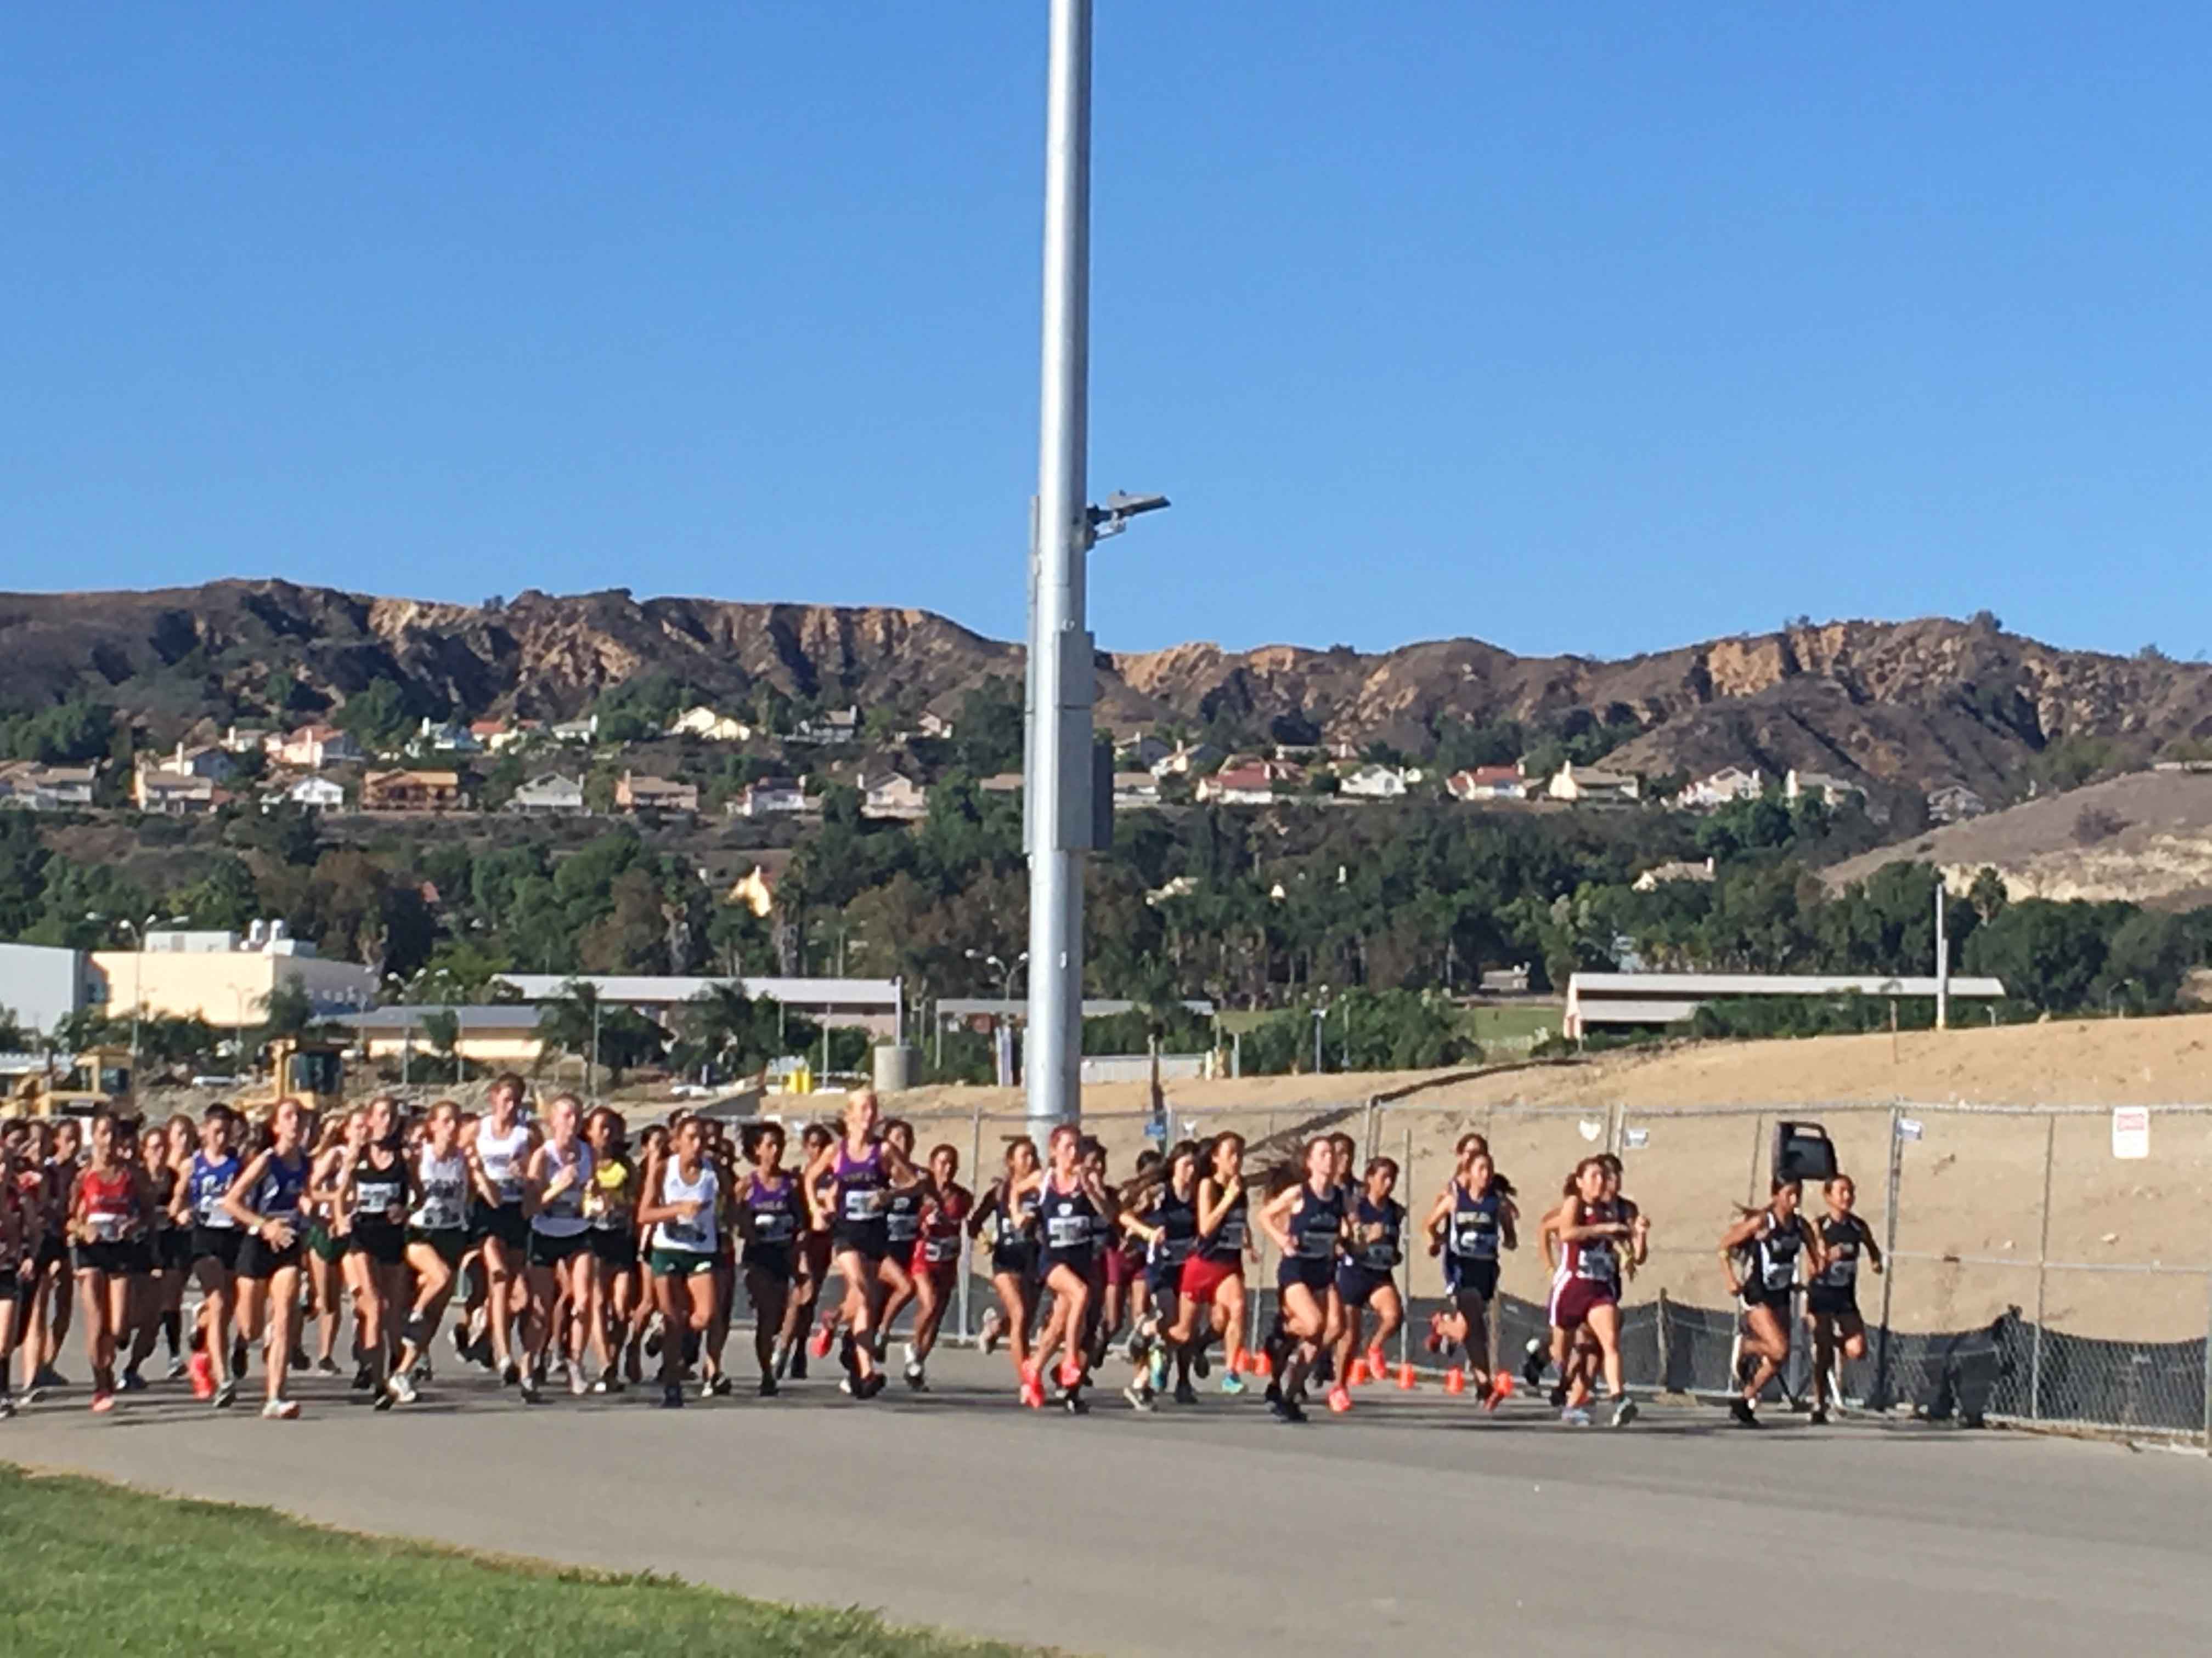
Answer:
<svg viewBox="0 0 2212 1658"><path fill-rule="evenodd" d="M1219 1397L1068 1419L1015 1408L1004 1360L938 1368L925 1397L805 1384L681 1413L639 1395L533 1410L467 1379L376 1415L312 1384L296 1424L170 1386L108 1419L82 1395L40 1406L0 1424L0 1455L1097 1654L2212 1643L2197 1457L1871 1424L1752 1435L1692 1410L1571 1433L1436 1388L1367 1391L1305 1430Z"/></svg>

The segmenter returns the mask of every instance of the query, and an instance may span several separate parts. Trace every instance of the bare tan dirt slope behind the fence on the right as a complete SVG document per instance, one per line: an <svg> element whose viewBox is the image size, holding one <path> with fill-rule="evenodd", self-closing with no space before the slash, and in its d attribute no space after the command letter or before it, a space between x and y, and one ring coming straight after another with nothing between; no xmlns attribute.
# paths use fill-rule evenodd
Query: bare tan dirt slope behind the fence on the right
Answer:
<svg viewBox="0 0 2212 1658"><path fill-rule="evenodd" d="M1732 1203L1765 1172L1776 1114L1818 1119L1863 1183L1860 1209L1887 1229L1885 1174L1889 1108L1913 1105L1922 1138L1907 1143L1898 1247L1920 1256L1978 1256L1991 1265L1905 1260L1893 1280L1900 1324L1958 1329L2006 1307L2033 1313L2035 1256L2044 1216L2044 1145L2053 1143L2053 1262L2212 1262L2212 1114L2159 1114L2152 1158L2110 1154L2110 1105L2212 1103L2212 1015L2099 1019L1995 1030L1907 1032L1807 1041L1683 1043L1663 1052L1606 1054L1573 1066L1533 1066L1453 1081L1449 1077L1265 1077L1179 1083L1168 1090L1179 1130L1237 1127L1250 1138L1338 1121L1365 1132L1367 1094L1433 1081L1378 1108L1378 1150L1407 1165L1400 1196L1416 1207L1449 1176L1451 1143L1469 1127L1491 1136L1500 1167L1533 1211L1557 1194L1566 1169L1613 1132L1630 1145L1630 1194L1655 1220L1655 1256L1635 1295L1719 1304L1723 1282L1712 1242ZM1818 1101L1818 1103L1812 1103ZM2084 1114L1969 1114L1949 1103L2079 1105ZM1772 1108L1781 1105L1781 1112ZM1144 1145L1141 1085L1093 1088L1084 1112L1121 1169ZM1759 1110L1770 1108L1770 1110ZM942 1136L971 1158L995 1161L1004 1134L1020 1132L1020 1090L933 1088L898 1096L925 1136ZM978 1125L973 1112L982 1112ZM949 1121L947 1121L949 1119ZM2020 1262L2020 1265L2011 1265ZM1422 1260L1416 1291L1429 1293ZM1544 1265L1524 1249L1506 1273L1520 1295L1540 1295ZM2205 1331L2212 1282L2203 1271L2042 1276L2053 1326L2081 1335L2188 1340ZM1876 1304L1880 1282L1865 1300Z"/></svg>

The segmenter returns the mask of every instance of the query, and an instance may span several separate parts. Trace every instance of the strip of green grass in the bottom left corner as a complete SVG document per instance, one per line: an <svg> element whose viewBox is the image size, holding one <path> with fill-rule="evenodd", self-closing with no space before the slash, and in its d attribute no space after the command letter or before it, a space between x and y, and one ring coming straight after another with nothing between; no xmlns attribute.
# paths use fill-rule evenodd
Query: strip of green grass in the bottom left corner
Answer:
<svg viewBox="0 0 2212 1658"><path fill-rule="evenodd" d="M732 1536L732 1550L745 1539ZM659 1576L489 1561L0 1466L7 1658L1004 1654Z"/></svg>

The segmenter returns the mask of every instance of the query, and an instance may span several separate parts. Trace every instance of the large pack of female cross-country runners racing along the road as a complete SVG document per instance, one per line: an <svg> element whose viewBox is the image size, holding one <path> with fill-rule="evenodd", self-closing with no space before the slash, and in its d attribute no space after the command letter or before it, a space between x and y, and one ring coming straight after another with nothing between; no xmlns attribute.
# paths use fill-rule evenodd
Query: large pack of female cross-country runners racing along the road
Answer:
<svg viewBox="0 0 2212 1658"><path fill-rule="evenodd" d="M82 1130L0 1125L0 1280L15 1282L15 1295L0 1295L0 1355L20 1355L22 1397L64 1386L55 1366L77 1304L91 1408L102 1413L144 1388L144 1366L166 1349L168 1379L190 1377L217 1408L237 1402L259 1351L261 1410L292 1417L290 1377L343 1375L347 1329L354 1388L376 1408L407 1406L434 1375L449 1315L458 1362L524 1402L555 1384L622 1393L653 1364L672 1408L688 1384L703 1397L732 1391L726 1349L741 1282L761 1395L836 1353L838 1386L872 1399L887 1386L889 1331L909 1311L900 1375L929 1386L971 1238L998 1298L984 1351L1009 1349L1031 1408L1084 1410L1126 1333L1121 1395L1135 1410L1194 1402L1194 1377L1212 1373L1219 1349L1223 1393L1265 1382L1267 1408L1296 1424L1314 1388L1329 1410L1349 1410L1358 1379L1387 1371L1405 1324L1400 1169L1387 1156L1356 1169L1349 1134L1316 1136L1267 1169L1245 1167L1234 1132L1181 1141L1144 1152L1110 1185L1106 1147L1062 1125L1042 1154L1009 1138L978 1196L960 1183L956 1147L922 1156L914 1125L880 1121L865 1090L841 1121L801 1130L796 1147L779 1123L732 1134L697 1114L633 1143L611 1108L553 1094L531 1121L524 1096L507 1074L480 1116L438 1101L409 1119L378 1096L321 1123L285 1099L259 1123L217 1105L197 1123L102 1112ZM1818 1225L1798 1198L1776 1183L1772 1203L1743 1211L1721 1240L1745 1320L1734 1415L1750 1426L1752 1402L1790 1355L1801 1258L1816 1410L1834 1353L1865 1351L1851 1287L1858 1258L1880 1267L1880 1251L1851 1211L1849 1180L1829 1183ZM1473 1388L1495 1410L1513 1373L1491 1353L1491 1304L1522 1216L1484 1136L1460 1138L1420 1229L1449 1295L1425 1346L1449 1357L1451 1391ZM1245 1267L1259 1238L1279 1269L1272 1322L1252 1340ZM1522 1375L1540 1386L1548 1360L1553 1406L1573 1426L1593 1421L1599 1384L1608 1421L1635 1419L1619 1300L1648 1240L1613 1156L1584 1158L1537 1222L1537 1247L1555 1262L1551 1342L1531 1344ZM190 1329L188 1284L199 1289ZM15 1399L0 1364L0 1415Z"/></svg>

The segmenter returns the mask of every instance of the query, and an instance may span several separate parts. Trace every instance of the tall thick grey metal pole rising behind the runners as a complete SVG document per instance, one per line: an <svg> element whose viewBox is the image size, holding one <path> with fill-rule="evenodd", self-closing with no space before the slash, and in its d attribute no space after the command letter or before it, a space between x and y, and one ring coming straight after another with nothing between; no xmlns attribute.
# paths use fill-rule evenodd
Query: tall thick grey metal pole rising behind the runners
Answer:
<svg viewBox="0 0 2212 1658"><path fill-rule="evenodd" d="M1091 0L1053 0L1044 104L1044 351L1029 570L1029 1123L1082 1116L1091 844Z"/></svg>

